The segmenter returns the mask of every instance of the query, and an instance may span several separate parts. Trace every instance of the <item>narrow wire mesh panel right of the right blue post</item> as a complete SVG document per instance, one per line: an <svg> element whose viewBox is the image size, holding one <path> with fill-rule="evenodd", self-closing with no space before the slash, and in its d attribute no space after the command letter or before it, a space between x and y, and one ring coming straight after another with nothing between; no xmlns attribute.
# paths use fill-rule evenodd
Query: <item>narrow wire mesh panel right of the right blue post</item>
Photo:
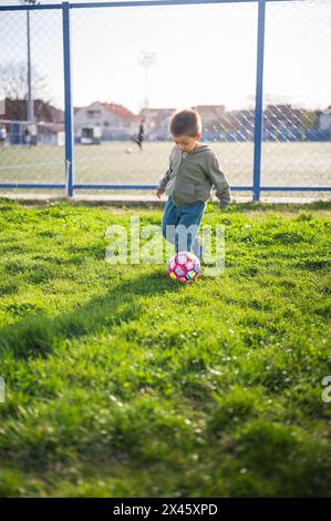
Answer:
<svg viewBox="0 0 331 521"><path fill-rule="evenodd" d="M330 28L328 0L267 4L262 186L331 184Z"/></svg>

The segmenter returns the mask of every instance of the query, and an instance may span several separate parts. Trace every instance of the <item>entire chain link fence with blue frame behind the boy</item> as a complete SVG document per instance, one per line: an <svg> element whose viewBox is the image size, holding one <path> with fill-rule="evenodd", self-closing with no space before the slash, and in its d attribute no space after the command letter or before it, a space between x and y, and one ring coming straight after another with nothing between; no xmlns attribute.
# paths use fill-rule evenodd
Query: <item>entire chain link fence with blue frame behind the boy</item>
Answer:
<svg viewBox="0 0 331 521"><path fill-rule="evenodd" d="M328 197L331 3L157 3L70 4L71 71L64 4L0 8L0 194L63 193L69 170L80 194L151 193L167 170L169 119L193 106L235 195L255 185L255 198Z"/></svg>

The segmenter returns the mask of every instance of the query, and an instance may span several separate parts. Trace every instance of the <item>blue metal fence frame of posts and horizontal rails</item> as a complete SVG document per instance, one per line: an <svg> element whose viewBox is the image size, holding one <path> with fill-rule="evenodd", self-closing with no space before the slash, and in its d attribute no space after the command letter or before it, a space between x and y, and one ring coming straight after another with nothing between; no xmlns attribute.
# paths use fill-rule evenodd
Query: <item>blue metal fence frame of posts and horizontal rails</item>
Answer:
<svg viewBox="0 0 331 521"><path fill-rule="evenodd" d="M210 4L210 3L256 3L258 2L258 33L257 33L257 74L255 100L255 137L254 137L254 172L252 186L230 186L236 191L252 192L252 201L259 201L261 191L272 192L324 192L331 191L331 186L261 186L261 143L262 143L262 95L263 95L263 58L265 58L265 25L266 3L287 2L302 0L159 0L159 1L127 1L127 2L95 2L95 3L54 3L29 6L0 6L1 11L21 10L62 10L63 30L63 68L64 68L64 99L65 99L65 184L40 183L0 183L0 188L65 188L66 195L74 195L75 190L154 190L156 185L125 185L125 184L76 184L74 182L74 131L73 131L73 104L71 92L71 45L70 45L70 10L71 9L97 9L97 8L136 8L180 6L180 4Z"/></svg>

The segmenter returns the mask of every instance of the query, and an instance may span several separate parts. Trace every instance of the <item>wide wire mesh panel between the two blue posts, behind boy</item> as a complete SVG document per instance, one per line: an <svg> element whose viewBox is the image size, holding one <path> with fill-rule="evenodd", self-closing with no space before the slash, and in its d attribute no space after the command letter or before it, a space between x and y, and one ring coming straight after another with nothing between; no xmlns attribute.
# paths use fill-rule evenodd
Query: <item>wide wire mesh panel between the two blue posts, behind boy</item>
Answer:
<svg viewBox="0 0 331 521"><path fill-rule="evenodd" d="M256 4L97 9L89 17L79 9L72 30L77 183L156 184L172 149L169 118L185 106L200 112L203 140L214 143L229 176L249 182L252 145L244 140L252 139L252 114L225 102L245 101L255 89ZM245 118L251 127L244 135ZM143 119L141 151L133 140ZM82 144L89 127L102 134L93 151Z"/></svg>

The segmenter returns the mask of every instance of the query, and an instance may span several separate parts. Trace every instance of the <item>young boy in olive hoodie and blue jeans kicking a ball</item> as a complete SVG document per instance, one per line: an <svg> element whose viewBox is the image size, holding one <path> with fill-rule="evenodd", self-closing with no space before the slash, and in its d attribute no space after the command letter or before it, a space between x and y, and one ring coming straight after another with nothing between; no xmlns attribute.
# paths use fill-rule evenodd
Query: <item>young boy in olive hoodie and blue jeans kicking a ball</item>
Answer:
<svg viewBox="0 0 331 521"><path fill-rule="evenodd" d="M170 120L169 131L176 146L170 153L169 168L156 191L158 198L163 193L168 195L162 233L175 244L176 252L193 252L201 260L204 246L198 229L206 201L215 185L219 207L226 208L230 203L230 188L214 152L199 143L201 119L198 112L177 112Z"/></svg>

